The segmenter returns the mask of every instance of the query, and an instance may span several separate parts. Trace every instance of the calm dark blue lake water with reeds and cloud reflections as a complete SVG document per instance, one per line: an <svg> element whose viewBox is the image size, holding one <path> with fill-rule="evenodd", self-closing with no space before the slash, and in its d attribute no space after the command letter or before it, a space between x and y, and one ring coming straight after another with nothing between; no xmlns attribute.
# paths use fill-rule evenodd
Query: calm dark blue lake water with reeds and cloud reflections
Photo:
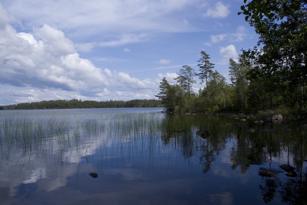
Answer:
<svg viewBox="0 0 307 205"><path fill-rule="evenodd" d="M158 111L0 111L0 204L307 203L302 128Z"/></svg>

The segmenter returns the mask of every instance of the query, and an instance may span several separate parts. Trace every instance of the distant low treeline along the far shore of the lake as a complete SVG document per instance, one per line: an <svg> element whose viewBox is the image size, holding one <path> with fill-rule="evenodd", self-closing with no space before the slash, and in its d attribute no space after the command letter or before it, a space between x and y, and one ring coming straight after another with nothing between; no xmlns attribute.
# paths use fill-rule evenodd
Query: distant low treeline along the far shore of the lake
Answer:
<svg viewBox="0 0 307 205"><path fill-rule="evenodd" d="M130 101L81 101L72 100L50 100L31 103L18 103L13 105L2 105L0 110L36 110L36 109L75 109L75 108L150 108L163 107L161 100L144 99Z"/></svg>

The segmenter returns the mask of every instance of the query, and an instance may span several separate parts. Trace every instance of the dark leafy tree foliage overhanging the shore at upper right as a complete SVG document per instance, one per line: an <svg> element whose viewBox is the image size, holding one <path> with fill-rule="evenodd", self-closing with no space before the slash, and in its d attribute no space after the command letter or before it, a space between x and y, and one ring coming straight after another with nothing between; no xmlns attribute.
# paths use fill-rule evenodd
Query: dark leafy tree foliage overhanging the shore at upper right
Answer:
<svg viewBox="0 0 307 205"><path fill-rule="evenodd" d="M306 2L253 0L241 9L260 35L258 46L262 46L243 50L243 56L255 65L254 73L266 82L264 86L270 96L277 97L286 89L300 87L300 106L304 108L303 86L307 85ZM270 99L271 108L272 102Z"/></svg>

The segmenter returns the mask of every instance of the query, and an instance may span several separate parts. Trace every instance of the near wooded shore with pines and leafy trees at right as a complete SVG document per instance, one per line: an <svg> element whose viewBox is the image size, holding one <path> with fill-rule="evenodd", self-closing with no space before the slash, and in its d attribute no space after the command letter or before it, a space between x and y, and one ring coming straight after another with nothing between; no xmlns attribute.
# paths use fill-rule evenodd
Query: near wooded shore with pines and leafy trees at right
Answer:
<svg viewBox="0 0 307 205"><path fill-rule="evenodd" d="M244 3L247 1L244 0ZM200 52L198 71L185 65L160 93L170 112L245 112L292 109L306 112L307 12L302 0L253 0L241 6L245 20L259 35L257 46L229 59L229 79L214 70L209 55ZM204 88L193 91L195 78Z"/></svg>

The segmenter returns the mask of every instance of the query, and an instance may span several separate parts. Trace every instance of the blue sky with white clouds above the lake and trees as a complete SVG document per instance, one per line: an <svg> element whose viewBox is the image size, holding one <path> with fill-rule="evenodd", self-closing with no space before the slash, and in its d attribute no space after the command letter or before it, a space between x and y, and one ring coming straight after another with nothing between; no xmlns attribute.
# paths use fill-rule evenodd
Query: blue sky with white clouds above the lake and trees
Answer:
<svg viewBox="0 0 307 205"><path fill-rule="evenodd" d="M0 0L0 105L157 99L163 77L197 72L258 41L243 0ZM194 92L204 84L194 85Z"/></svg>

